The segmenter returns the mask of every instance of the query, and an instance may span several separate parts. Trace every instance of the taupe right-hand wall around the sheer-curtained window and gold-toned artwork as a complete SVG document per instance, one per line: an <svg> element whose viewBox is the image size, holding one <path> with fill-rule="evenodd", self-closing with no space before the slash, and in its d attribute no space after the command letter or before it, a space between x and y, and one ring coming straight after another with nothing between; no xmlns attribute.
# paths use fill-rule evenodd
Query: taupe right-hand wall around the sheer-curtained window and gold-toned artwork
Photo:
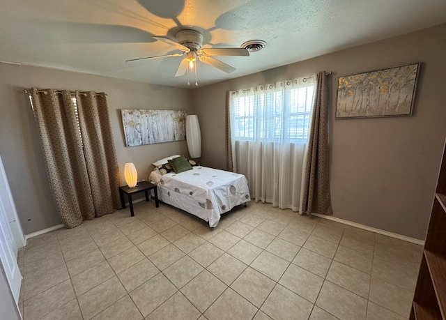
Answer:
<svg viewBox="0 0 446 320"><path fill-rule="evenodd" d="M330 177L337 218L424 239L446 137L446 24L193 91L201 163L226 169L228 90L312 75L330 76ZM253 53L255 54L255 53ZM340 75L421 62L410 117L335 120Z"/></svg>

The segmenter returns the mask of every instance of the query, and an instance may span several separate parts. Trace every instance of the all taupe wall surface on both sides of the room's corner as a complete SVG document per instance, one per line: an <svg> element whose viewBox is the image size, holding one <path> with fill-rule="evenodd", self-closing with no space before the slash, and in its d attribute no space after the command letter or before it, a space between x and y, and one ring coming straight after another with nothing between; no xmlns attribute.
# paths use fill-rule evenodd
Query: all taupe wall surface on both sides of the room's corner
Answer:
<svg viewBox="0 0 446 320"><path fill-rule="evenodd" d="M119 109L185 109L199 116L203 165L226 169L227 90L312 75L330 77L330 175L334 216L424 238L446 136L446 24L189 91L121 79L0 63L0 153L25 234L60 223L49 192L36 124L23 89L105 91L118 163L137 166L187 155L185 142L126 148ZM255 54L255 53L254 53ZM410 117L334 120L337 77L422 62ZM123 176L121 172L121 181Z"/></svg>

